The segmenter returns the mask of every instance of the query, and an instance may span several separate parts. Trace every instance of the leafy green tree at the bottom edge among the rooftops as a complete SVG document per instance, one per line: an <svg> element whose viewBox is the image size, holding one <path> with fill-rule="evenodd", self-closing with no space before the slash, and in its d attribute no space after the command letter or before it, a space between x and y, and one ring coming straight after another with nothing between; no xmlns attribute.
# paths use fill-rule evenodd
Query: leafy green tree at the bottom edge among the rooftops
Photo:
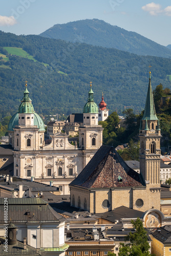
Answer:
<svg viewBox="0 0 171 256"><path fill-rule="evenodd" d="M119 256L148 256L149 244L146 231L140 218L133 221L131 220L135 232L130 232L125 237L125 243L120 243ZM127 242L127 243L126 243Z"/></svg>

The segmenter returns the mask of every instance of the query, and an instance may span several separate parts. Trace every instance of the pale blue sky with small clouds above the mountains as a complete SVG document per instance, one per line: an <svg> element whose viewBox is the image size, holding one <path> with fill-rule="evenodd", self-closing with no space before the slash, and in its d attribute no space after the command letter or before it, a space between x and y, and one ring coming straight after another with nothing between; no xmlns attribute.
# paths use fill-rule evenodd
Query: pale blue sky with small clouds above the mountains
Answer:
<svg viewBox="0 0 171 256"><path fill-rule="evenodd" d="M0 0L0 30L16 35L40 34L55 24L92 18L163 46L171 44L170 0Z"/></svg>

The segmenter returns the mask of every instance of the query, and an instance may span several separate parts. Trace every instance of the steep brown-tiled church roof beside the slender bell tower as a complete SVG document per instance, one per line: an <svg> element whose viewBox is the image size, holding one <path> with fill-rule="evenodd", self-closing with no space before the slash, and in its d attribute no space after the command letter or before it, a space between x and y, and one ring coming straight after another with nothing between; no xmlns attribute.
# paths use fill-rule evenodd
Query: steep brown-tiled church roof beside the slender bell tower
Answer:
<svg viewBox="0 0 171 256"><path fill-rule="evenodd" d="M122 179L119 182L119 177ZM143 178L131 169L113 146L102 145L70 185L85 188L142 187Z"/></svg>

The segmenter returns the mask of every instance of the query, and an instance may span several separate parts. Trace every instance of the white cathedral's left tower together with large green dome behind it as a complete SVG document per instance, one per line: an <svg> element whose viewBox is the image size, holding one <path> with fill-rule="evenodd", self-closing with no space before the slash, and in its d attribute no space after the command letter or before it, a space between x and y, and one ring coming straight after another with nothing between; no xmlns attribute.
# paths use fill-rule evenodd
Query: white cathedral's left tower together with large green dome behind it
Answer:
<svg viewBox="0 0 171 256"><path fill-rule="evenodd" d="M31 178L33 176L31 155L42 148L45 126L42 119L34 112L29 98L27 82L24 97L21 101L18 113L15 113L9 121L9 144L14 147L14 176ZM30 157L26 157L28 152ZM30 176L30 174L32 175Z"/></svg>

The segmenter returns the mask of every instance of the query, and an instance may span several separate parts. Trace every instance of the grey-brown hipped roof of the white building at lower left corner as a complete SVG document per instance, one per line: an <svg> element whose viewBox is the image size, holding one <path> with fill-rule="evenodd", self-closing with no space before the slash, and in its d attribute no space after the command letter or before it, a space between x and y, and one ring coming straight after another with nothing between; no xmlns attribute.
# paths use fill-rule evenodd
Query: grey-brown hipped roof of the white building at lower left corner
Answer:
<svg viewBox="0 0 171 256"><path fill-rule="evenodd" d="M30 211L30 215L27 215ZM59 223L65 221L47 202L40 198L8 198L8 222ZM0 198L0 223L4 223L4 199Z"/></svg>

